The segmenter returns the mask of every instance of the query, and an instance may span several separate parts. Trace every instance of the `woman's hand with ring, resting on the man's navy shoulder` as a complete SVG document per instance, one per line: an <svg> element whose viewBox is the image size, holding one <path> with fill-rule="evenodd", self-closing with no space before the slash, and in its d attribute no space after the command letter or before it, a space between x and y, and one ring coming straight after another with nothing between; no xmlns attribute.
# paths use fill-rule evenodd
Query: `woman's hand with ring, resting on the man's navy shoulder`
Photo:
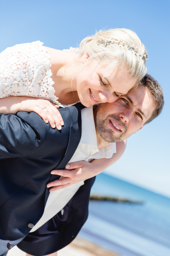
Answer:
<svg viewBox="0 0 170 256"><path fill-rule="evenodd" d="M61 125L64 125L63 118L58 111L59 106L50 103L48 100L35 99L25 97L19 104L18 111L35 112L50 124L52 128L61 130Z"/></svg>

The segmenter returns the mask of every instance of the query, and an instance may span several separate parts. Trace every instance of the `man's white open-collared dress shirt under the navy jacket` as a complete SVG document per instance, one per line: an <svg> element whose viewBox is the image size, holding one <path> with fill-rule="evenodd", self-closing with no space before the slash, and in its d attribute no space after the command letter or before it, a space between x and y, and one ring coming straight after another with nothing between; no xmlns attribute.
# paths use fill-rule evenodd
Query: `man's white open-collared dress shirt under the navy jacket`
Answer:
<svg viewBox="0 0 170 256"><path fill-rule="evenodd" d="M92 161L92 159L111 158L116 153L116 143L110 143L107 147L98 149L96 129L93 117L93 107L83 108L81 110L82 119L82 136L78 148L72 156L69 163L80 160ZM48 220L54 217L58 212L62 212L64 206L70 201L80 186L84 185L84 181L72 184L69 187L62 188L51 192L44 209L44 213L37 224L31 229L34 232L45 224Z"/></svg>

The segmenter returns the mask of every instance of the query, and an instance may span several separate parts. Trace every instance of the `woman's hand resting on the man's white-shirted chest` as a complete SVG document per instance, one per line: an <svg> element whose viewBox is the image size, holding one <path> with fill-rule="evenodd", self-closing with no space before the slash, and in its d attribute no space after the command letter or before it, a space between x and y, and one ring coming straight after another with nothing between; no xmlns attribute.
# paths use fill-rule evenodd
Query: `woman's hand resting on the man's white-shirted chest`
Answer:
<svg viewBox="0 0 170 256"><path fill-rule="evenodd" d="M69 167L70 166L70 167ZM47 188L50 188L49 192L66 188L74 183L82 180L92 178L99 173L99 168L96 164L86 161L78 161L69 163L66 165L67 170L53 170L51 174L62 176L59 180L54 180L47 184ZM69 170L68 170L69 169Z"/></svg>

